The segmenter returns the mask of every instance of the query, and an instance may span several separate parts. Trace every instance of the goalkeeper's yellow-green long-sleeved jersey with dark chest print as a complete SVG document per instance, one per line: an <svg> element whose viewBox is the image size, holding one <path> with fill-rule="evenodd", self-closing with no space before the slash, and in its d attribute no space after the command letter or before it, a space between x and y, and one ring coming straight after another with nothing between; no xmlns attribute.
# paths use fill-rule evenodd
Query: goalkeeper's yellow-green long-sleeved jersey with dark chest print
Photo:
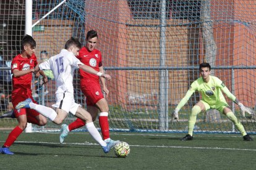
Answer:
<svg viewBox="0 0 256 170"><path fill-rule="evenodd" d="M176 108L180 110L195 91L198 91L202 97L201 100L207 102L209 105L216 105L220 102L226 103L221 91L223 91L229 97L229 99L233 101L236 100L236 97L228 90L220 79L216 78L215 76L209 77L210 80L208 83L205 83L202 77L194 81L191 84L189 91L187 91L187 94L181 100L181 102L179 102Z"/></svg>

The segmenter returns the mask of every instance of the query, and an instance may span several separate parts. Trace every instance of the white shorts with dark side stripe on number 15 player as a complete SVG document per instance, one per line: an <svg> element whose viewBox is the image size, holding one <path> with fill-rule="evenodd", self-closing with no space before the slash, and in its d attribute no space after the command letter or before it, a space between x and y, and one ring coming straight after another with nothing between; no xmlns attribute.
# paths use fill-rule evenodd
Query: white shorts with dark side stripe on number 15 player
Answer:
<svg viewBox="0 0 256 170"><path fill-rule="evenodd" d="M72 113L72 115L75 115L77 112L78 107L81 105L75 103L74 100L74 94L70 92L64 92L64 93L58 93L55 94L55 100L56 103L53 104L53 107L60 108L62 110L67 111L67 113Z"/></svg>

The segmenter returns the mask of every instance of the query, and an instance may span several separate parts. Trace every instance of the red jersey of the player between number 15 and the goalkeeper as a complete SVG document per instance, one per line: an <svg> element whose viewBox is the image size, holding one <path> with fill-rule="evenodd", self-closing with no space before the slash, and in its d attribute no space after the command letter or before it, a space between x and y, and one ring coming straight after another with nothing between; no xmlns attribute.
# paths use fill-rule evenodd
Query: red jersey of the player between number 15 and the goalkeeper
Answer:
<svg viewBox="0 0 256 170"><path fill-rule="evenodd" d="M77 56L77 59L79 59L83 64L88 65L92 67L94 70L99 71L102 66L102 61L101 61L101 52L98 51L97 49L94 49L93 51L88 51L87 47L82 47L79 51L79 56ZM80 79L81 83L82 81L96 81L99 83L99 76L92 75L91 73L87 73L83 71L82 69L80 70Z"/></svg>

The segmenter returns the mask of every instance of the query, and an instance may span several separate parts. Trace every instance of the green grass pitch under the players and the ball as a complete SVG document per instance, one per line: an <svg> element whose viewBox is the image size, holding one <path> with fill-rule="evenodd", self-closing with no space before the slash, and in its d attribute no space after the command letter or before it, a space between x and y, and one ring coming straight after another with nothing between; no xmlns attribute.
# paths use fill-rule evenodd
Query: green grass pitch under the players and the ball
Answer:
<svg viewBox="0 0 256 170"><path fill-rule="evenodd" d="M4 144L9 131L0 131ZM246 142L234 134L111 132L114 140L130 145L126 158L114 150L105 154L88 132L70 132L65 144L59 134L25 133L12 145L15 155L1 155L0 169L255 169L256 136Z"/></svg>

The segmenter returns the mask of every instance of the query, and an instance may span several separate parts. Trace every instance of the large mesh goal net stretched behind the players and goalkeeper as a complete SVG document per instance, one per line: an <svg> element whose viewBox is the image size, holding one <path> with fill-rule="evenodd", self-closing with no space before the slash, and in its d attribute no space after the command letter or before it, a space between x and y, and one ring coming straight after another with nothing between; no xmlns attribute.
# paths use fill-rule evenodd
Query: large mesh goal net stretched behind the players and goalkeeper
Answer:
<svg viewBox="0 0 256 170"><path fill-rule="evenodd" d="M17 46L24 33L25 2L0 3L5 31L1 35L1 55L5 55L3 61L9 61L20 52ZM255 107L255 11L253 0L33 1L36 56L40 59L42 51L49 56L58 54L70 36L85 45L87 31L98 31L96 48L102 53L106 73L112 76L107 82L110 129L186 133L189 114L200 95L192 95L179 111L179 122L171 122L171 113L190 84L199 78L198 65L202 62L210 63L211 75L220 78L239 101ZM6 44L4 36L9 38ZM86 108L79 81L77 71L74 96ZM10 94L10 86L1 88L2 94ZM38 103L49 107L54 103L54 79L46 86L35 79L32 88ZM1 104L4 101L7 105L10 99L1 98ZM237 105L227 97L226 100L246 131L255 133L254 117L242 117ZM10 105L1 107L1 111L10 109ZM74 120L69 115L64 123ZM16 121L1 119L0 127L8 127L10 122ZM100 127L98 119L95 125ZM51 121L43 127L33 126L34 131L59 128ZM84 127L77 129L83 130ZM238 131L222 113L209 110L198 114L194 132Z"/></svg>

